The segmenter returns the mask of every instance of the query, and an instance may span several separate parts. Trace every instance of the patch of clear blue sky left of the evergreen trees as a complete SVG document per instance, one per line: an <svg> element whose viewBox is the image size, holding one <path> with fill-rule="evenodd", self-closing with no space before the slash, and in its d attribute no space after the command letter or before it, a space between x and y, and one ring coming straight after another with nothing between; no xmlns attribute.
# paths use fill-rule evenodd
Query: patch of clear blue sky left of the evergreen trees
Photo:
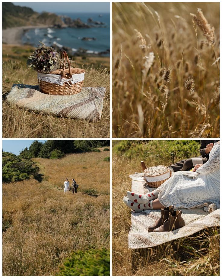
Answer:
<svg viewBox="0 0 222 278"><path fill-rule="evenodd" d="M18 155L19 151L25 147L29 147L34 140L2 140L2 149L4 152L11 152ZM38 140L45 142L46 140Z"/></svg>

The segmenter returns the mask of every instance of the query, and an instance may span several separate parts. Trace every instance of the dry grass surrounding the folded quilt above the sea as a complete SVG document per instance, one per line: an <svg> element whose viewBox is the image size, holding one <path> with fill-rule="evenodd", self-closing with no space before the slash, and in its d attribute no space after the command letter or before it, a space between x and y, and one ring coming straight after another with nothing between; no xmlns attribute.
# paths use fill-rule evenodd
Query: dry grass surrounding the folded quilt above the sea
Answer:
<svg viewBox="0 0 222 278"><path fill-rule="evenodd" d="M84 120L41 115L5 102L12 84L37 85L37 73L26 67L34 48L3 44L3 137L4 138L108 138L110 134L109 57L75 57L74 65L86 71L84 87L106 87L101 120Z"/></svg>

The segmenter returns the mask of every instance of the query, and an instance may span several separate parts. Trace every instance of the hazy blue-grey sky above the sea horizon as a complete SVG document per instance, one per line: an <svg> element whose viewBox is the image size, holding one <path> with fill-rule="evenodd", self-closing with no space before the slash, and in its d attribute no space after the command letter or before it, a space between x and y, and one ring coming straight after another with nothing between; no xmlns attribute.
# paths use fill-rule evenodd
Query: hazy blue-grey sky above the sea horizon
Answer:
<svg viewBox="0 0 222 278"><path fill-rule="evenodd" d="M42 12L96 12L109 13L109 2L12 2L14 5L26 6Z"/></svg>

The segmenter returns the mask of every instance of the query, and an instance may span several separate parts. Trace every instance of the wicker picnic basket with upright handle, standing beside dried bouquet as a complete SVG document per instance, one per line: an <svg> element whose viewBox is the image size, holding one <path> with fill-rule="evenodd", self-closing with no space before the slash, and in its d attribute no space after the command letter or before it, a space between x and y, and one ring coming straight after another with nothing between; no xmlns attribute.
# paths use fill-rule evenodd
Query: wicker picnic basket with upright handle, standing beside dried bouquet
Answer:
<svg viewBox="0 0 222 278"><path fill-rule="evenodd" d="M73 95L81 92L84 81L84 69L71 68L67 53L63 50L62 69L50 73L38 72L39 90L48 95ZM68 68L65 68L65 64Z"/></svg>

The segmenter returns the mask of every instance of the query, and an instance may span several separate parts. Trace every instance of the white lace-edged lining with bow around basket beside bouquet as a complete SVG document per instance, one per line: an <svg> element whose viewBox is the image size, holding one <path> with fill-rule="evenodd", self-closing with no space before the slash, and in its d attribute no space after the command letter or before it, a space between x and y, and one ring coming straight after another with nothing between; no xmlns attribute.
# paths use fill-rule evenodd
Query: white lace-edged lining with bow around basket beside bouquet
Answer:
<svg viewBox="0 0 222 278"><path fill-rule="evenodd" d="M49 83L54 83L54 84L57 84L57 85L60 85L60 86L62 86L65 82L67 82L69 84L69 81L72 84L76 84L78 82L81 82L81 81L84 80L84 76L85 76L85 73L78 73L78 74L73 74L71 78L66 79L66 78L62 78L62 76L59 75L59 74L46 74L46 73L39 73L38 72L38 79L39 80L46 81L46 82L49 82Z"/></svg>

